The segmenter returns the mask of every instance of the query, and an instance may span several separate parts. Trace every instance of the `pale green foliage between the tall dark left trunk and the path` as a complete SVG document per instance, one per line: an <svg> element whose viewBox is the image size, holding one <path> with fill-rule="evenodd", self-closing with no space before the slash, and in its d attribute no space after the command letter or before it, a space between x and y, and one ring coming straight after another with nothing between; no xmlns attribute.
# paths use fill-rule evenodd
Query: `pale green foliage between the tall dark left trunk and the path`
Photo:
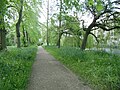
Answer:
<svg viewBox="0 0 120 90"><path fill-rule="evenodd" d="M23 26L25 27L25 31L28 32L30 42L32 44L35 44L38 42L38 39L40 38L40 31L39 31L39 21L38 21L38 11L36 10L37 0L32 0L31 4L29 5L29 2L25 2L24 7L24 16L23 16Z"/></svg>

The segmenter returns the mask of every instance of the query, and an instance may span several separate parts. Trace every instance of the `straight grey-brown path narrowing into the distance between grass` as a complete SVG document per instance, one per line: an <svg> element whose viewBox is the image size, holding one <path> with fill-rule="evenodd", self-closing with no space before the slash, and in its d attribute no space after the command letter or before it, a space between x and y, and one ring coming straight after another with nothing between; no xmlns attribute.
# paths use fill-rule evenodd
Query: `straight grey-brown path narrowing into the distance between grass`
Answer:
<svg viewBox="0 0 120 90"><path fill-rule="evenodd" d="M91 90L42 47L38 47L28 90Z"/></svg>

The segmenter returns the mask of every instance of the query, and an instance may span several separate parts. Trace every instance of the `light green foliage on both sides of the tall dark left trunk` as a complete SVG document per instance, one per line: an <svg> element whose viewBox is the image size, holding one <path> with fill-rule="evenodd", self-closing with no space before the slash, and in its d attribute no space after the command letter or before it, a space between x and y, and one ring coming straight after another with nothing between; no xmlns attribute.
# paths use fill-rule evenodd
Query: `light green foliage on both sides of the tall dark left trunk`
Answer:
<svg viewBox="0 0 120 90"><path fill-rule="evenodd" d="M5 0L6 1L6 0ZM5 2L3 1L3 2ZM25 31L28 32L28 38L25 37L25 40L28 41L26 44L35 44L38 42L40 37L39 32L39 21L38 21L38 12L37 5L40 6L40 0L23 0L23 15L22 15L22 24L20 25L20 39L23 40L23 27ZM1 3L0 3L1 4ZM16 22L18 20L18 13L20 10L20 0L9 0L8 3L5 3L6 14L5 14L5 29L7 30L7 45L16 44ZM1 14L0 14L1 15ZM30 40L30 41L29 41ZM24 43L21 42L21 45Z"/></svg>

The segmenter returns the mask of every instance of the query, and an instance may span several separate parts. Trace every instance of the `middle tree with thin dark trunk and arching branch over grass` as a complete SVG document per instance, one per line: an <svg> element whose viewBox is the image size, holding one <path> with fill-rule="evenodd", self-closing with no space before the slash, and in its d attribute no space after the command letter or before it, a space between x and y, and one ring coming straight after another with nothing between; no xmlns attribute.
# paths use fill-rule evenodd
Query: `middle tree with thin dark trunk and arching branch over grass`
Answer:
<svg viewBox="0 0 120 90"><path fill-rule="evenodd" d="M64 33L68 33L73 36L76 35L78 36L78 38L81 34L77 16L73 14L70 15L71 12L69 12L67 8L68 7L64 4L64 0L61 0L59 5L59 14L58 14L58 21L59 21L58 41L57 41L58 48L60 47L60 40ZM78 39L78 42L79 42L79 39Z"/></svg>

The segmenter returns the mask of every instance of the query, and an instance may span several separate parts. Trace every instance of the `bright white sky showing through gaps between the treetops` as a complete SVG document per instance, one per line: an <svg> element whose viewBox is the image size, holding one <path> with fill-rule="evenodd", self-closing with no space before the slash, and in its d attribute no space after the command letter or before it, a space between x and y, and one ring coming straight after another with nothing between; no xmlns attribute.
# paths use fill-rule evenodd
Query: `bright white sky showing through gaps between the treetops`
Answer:
<svg viewBox="0 0 120 90"><path fill-rule="evenodd" d="M40 13L40 19L39 21L41 23L45 23L47 21L47 1L48 0L43 0L43 4L42 4L42 9L41 13ZM51 17L51 14L58 12L57 7L57 0L49 0L49 18ZM72 14L72 13L71 13ZM92 16L90 16L90 14L86 14L85 16L82 16L81 14L79 14L79 18L85 20L85 25L88 26L91 22L92 22Z"/></svg>

